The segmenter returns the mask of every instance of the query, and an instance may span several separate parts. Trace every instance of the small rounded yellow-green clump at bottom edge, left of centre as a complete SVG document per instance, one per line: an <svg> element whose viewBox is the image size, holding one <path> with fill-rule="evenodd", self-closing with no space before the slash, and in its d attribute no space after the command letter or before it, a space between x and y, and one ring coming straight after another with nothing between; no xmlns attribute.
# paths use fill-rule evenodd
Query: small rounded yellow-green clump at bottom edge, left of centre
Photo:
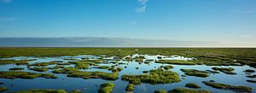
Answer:
<svg viewBox="0 0 256 93"><path fill-rule="evenodd" d="M114 87L113 83L104 83L101 84L101 88L98 90L98 93L111 93Z"/></svg>

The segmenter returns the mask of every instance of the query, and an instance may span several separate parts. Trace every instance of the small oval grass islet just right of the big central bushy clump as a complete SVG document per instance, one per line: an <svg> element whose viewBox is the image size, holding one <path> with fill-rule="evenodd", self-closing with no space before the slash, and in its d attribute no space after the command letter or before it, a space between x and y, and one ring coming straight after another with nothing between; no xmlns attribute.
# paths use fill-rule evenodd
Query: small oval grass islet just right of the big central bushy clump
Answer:
<svg viewBox="0 0 256 93"><path fill-rule="evenodd" d="M202 77L202 78L206 78L209 76L209 73L207 73L206 71L200 71L195 69L180 69L180 70L189 76Z"/></svg>

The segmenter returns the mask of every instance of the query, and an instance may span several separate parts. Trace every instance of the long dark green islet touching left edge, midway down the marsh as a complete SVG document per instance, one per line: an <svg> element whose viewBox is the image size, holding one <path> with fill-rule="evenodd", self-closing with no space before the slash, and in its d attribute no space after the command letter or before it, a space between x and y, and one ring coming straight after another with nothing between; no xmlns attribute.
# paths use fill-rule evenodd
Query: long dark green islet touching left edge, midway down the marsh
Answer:
<svg viewBox="0 0 256 93"><path fill-rule="evenodd" d="M56 78L51 73L29 73L29 72L0 72L0 78Z"/></svg>

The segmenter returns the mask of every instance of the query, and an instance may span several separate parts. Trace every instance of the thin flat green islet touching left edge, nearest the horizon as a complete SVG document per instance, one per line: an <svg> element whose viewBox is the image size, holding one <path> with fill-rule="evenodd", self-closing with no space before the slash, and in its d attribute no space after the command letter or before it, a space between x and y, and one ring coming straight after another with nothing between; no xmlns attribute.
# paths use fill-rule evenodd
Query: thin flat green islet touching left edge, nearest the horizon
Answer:
<svg viewBox="0 0 256 93"><path fill-rule="evenodd" d="M0 65L6 65L6 64L15 64L15 65L26 65L28 64L28 61L34 61L34 60L0 60Z"/></svg>

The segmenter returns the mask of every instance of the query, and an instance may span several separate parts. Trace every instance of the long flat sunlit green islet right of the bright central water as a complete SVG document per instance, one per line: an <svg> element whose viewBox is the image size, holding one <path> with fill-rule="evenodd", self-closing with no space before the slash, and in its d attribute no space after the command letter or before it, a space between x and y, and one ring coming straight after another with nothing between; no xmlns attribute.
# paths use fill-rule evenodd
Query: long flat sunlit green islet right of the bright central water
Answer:
<svg viewBox="0 0 256 93"><path fill-rule="evenodd" d="M196 65L194 61L182 61L182 60L160 60L156 63L175 64L175 65Z"/></svg>

